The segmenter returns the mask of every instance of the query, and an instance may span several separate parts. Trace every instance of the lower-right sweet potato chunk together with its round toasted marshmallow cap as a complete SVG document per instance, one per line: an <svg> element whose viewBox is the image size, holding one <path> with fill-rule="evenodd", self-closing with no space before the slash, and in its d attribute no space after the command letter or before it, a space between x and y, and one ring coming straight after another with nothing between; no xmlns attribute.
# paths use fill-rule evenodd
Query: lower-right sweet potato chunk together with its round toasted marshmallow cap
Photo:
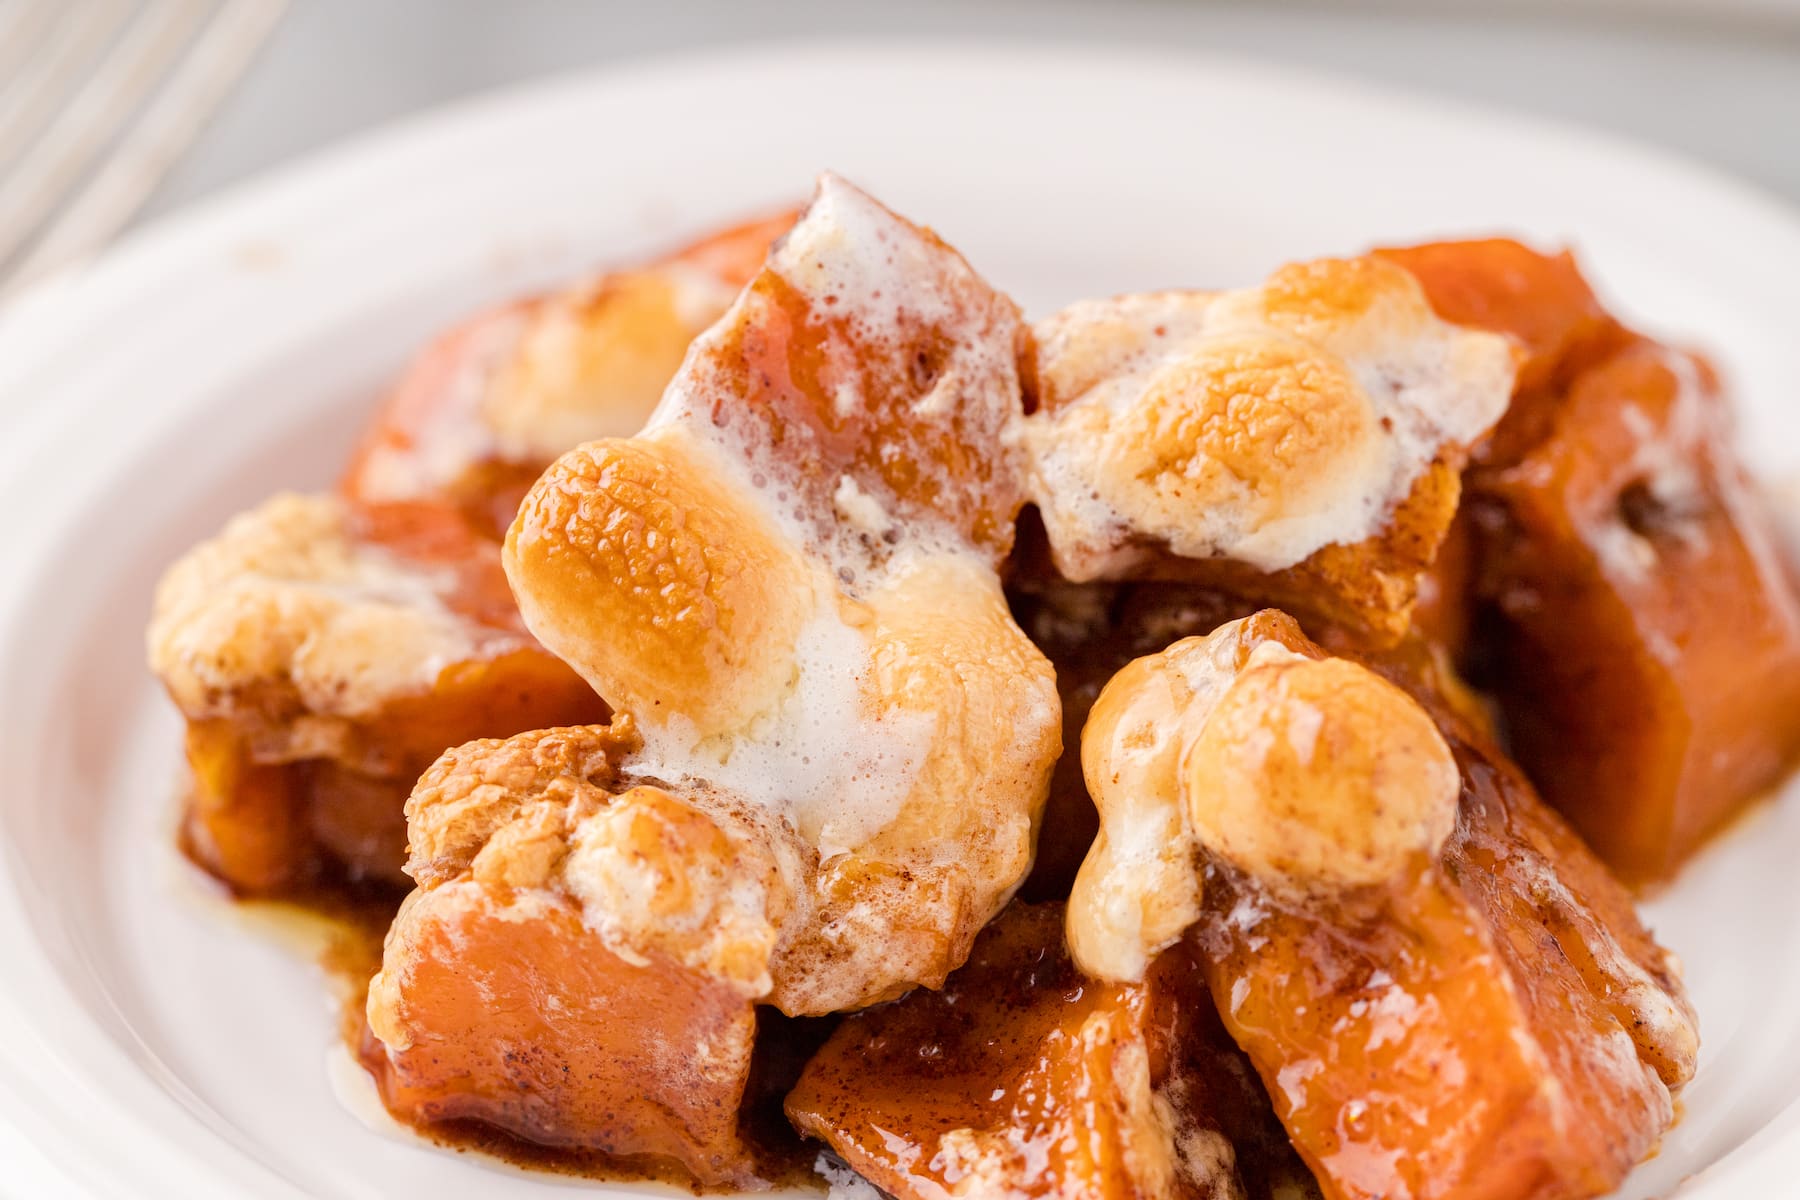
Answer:
<svg viewBox="0 0 1800 1200"><path fill-rule="evenodd" d="M1262 612L1107 685L1071 954L1184 939L1330 1200L1609 1191L1694 1070L1676 964L1429 646L1363 653Z"/></svg>

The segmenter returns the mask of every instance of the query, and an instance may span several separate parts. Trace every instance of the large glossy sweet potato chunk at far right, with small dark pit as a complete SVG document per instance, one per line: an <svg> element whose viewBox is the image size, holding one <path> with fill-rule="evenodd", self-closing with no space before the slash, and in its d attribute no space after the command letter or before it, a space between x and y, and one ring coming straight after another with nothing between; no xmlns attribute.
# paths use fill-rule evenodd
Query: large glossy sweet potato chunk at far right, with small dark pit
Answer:
<svg viewBox="0 0 1800 1200"><path fill-rule="evenodd" d="M1705 362L1640 338L1568 255L1393 252L1532 358L1467 471L1476 646L1514 752L1629 883L1676 869L1800 756L1800 599Z"/></svg>

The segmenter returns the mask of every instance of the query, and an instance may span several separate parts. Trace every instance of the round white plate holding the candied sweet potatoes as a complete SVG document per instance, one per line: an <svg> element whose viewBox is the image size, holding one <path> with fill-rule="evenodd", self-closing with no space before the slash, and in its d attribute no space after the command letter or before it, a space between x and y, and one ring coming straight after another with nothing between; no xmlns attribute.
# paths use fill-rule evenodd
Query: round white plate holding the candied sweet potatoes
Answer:
<svg viewBox="0 0 1800 1200"><path fill-rule="evenodd" d="M1764 471L1800 466L1789 212L1597 137L1242 63L760 47L482 99L193 209L0 322L0 1121L68 1195L571 1186L340 1101L319 972L169 849L178 727L140 666L149 588L232 511L326 484L448 318L796 198L824 166L1039 313L1382 241L1571 241L1631 317L1717 353ZM1651 907L1705 1051L1625 1196L1697 1171L1683 1196L1777 1195L1800 1173L1796 860L1800 804L1778 806Z"/></svg>

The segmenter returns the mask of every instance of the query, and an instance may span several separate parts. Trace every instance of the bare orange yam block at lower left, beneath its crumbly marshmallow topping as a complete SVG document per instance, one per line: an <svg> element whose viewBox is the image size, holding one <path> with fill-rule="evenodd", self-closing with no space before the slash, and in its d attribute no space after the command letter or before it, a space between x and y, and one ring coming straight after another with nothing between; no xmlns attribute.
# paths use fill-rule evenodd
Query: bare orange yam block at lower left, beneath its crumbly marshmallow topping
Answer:
<svg viewBox="0 0 1800 1200"><path fill-rule="evenodd" d="M752 1002L661 955L621 957L572 903L479 882L416 892L369 1015L382 1097L409 1119L761 1182L738 1128Z"/></svg>

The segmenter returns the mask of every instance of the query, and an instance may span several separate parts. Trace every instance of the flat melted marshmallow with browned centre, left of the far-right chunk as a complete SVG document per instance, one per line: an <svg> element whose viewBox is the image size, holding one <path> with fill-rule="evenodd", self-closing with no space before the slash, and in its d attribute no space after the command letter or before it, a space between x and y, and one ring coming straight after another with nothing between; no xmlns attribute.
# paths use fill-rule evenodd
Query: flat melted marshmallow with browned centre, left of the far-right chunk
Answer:
<svg viewBox="0 0 1800 1200"><path fill-rule="evenodd" d="M1087 300L1040 322L1030 493L1071 579L1147 554L1292 567L1377 536L1505 412L1514 351L1381 259L1244 291Z"/></svg>

